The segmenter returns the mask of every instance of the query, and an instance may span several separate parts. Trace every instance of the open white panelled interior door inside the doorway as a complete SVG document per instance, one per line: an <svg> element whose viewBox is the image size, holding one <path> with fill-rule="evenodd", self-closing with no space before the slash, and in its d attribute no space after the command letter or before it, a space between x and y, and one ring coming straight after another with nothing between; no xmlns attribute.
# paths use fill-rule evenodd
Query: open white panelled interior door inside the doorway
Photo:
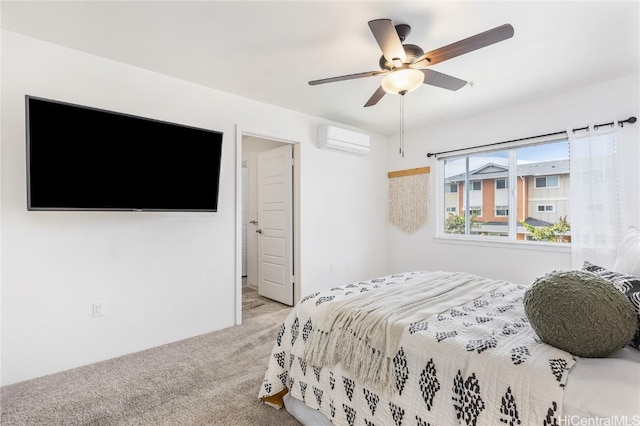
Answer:
<svg viewBox="0 0 640 426"><path fill-rule="evenodd" d="M293 148L258 154L258 293L293 305Z"/></svg>

